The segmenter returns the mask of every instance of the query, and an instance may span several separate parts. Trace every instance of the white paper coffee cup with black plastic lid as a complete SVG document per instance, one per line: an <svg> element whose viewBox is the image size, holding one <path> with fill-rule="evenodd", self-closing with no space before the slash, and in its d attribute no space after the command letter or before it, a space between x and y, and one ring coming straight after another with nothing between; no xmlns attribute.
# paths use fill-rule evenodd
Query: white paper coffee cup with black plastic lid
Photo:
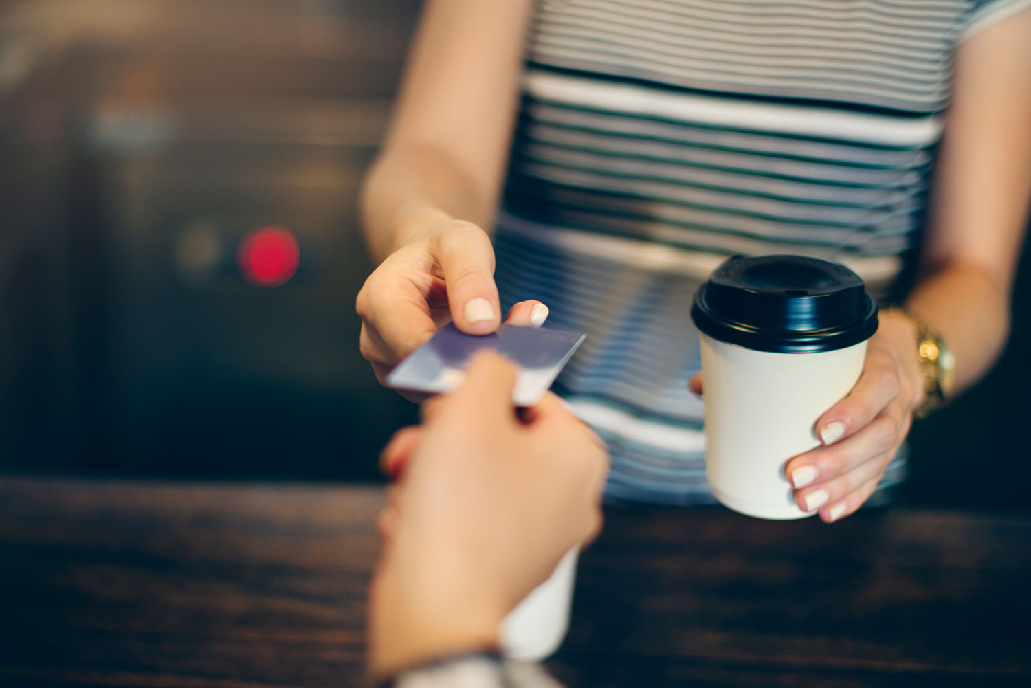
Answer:
<svg viewBox="0 0 1031 688"><path fill-rule="evenodd" d="M820 445L817 420L863 368L877 306L842 265L802 256L732 258L695 294L705 387L705 472L726 506L810 516L785 476Z"/></svg>

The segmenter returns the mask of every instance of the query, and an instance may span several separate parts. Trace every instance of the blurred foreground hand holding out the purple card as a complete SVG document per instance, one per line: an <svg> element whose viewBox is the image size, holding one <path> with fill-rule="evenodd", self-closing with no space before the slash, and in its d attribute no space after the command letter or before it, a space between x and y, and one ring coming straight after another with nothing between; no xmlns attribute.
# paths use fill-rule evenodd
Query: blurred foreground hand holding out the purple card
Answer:
<svg viewBox="0 0 1031 688"><path fill-rule="evenodd" d="M376 675L496 647L505 615L601 527L600 440L551 394L517 417L514 381L512 364L478 354L384 451L397 484L369 602Z"/></svg>

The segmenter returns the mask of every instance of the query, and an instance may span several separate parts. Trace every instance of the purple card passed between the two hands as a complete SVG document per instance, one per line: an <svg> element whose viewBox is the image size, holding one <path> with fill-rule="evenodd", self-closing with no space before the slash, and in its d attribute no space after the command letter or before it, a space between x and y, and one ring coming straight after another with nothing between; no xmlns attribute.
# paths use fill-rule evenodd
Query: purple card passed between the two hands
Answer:
<svg viewBox="0 0 1031 688"><path fill-rule="evenodd" d="M493 349L519 366L512 401L532 406L584 341L583 334L537 327L501 325L494 334L463 334L448 323L387 376L396 389L447 392L465 379L465 367L480 349Z"/></svg>

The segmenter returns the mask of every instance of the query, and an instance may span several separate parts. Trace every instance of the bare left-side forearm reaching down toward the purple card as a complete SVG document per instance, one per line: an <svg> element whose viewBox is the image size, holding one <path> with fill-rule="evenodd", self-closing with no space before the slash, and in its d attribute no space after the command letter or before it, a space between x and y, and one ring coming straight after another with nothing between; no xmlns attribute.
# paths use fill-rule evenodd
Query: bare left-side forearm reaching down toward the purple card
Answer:
<svg viewBox="0 0 1031 688"><path fill-rule="evenodd" d="M383 260L448 220L489 229L516 121L530 0L428 0L362 193Z"/></svg>

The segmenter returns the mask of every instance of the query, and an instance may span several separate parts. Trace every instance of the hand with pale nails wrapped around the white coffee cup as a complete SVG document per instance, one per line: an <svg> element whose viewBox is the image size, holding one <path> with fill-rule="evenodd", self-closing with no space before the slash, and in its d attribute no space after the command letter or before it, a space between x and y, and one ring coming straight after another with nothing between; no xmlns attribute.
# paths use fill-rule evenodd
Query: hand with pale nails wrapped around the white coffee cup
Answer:
<svg viewBox="0 0 1031 688"><path fill-rule="evenodd" d="M916 342L908 319L880 314L859 381L816 423L823 446L785 466L799 509L819 510L820 518L830 523L854 513L873 494L924 399ZM701 374L689 387L701 394Z"/></svg>

